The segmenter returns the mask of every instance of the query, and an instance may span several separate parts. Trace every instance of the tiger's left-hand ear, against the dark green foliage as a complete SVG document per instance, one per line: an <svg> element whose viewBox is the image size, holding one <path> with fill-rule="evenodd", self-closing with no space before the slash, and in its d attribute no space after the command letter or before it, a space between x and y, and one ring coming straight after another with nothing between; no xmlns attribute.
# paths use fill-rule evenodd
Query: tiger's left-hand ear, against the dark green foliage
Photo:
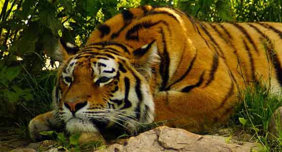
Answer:
<svg viewBox="0 0 282 152"><path fill-rule="evenodd" d="M63 62L66 60L69 56L76 54L79 51L79 47L76 45L73 45L68 42L64 42L60 39L58 42L58 47L55 50L55 59Z"/></svg>

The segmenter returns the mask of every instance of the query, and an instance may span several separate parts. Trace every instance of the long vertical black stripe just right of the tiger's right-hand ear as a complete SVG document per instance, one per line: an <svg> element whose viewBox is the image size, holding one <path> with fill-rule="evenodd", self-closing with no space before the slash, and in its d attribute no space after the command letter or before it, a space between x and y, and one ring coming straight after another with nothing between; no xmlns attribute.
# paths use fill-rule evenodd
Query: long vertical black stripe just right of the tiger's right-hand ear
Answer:
<svg viewBox="0 0 282 152"><path fill-rule="evenodd" d="M161 73L161 77L162 77L162 85L160 88L160 91L164 90L168 79L169 79L169 65L170 65L170 59L169 59L169 55L167 52L167 44L166 44L166 40L165 40L165 34L163 29L161 29L161 34L162 34L162 42L163 42L163 56L161 57L161 64L160 64L160 73Z"/></svg>

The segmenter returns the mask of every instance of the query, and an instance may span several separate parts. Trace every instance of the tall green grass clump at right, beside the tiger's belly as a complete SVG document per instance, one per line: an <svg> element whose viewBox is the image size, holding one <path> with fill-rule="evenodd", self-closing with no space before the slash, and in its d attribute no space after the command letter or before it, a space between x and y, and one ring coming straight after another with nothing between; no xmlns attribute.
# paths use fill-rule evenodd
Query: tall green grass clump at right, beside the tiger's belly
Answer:
<svg viewBox="0 0 282 152"><path fill-rule="evenodd" d="M253 135L263 145L262 151L282 151L282 136L275 141L269 139L269 121L278 107L282 106L280 94L272 94L266 87L254 84L242 90L235 114L229 125ZM279 129L282 133L281 128ZM282 135L280 133L280 135Z"/></svg>

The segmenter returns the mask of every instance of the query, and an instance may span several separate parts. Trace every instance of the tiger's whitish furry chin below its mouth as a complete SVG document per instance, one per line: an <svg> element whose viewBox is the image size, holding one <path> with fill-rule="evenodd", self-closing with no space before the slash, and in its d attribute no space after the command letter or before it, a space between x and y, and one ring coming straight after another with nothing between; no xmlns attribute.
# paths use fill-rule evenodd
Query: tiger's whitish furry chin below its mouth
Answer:
<svg viewBox="0 0 282 152"><path fill-rule="evenodd" d="M98 133L95 124L79 118L71 118L66 122L66 130L70 133Z"/></svg>

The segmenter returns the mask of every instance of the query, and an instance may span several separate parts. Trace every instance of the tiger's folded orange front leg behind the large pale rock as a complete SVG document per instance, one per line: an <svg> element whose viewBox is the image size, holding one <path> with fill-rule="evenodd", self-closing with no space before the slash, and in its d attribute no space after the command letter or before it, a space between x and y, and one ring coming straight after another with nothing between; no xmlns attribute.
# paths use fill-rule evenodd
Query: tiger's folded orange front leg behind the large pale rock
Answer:
<svg viewBox="0 0 282 152"><path fill-rule="evenodd" d="M236 85L187 87L160 91L155 95L155 122L188 131L203 131L228 120L236 104Z"/></svg>

